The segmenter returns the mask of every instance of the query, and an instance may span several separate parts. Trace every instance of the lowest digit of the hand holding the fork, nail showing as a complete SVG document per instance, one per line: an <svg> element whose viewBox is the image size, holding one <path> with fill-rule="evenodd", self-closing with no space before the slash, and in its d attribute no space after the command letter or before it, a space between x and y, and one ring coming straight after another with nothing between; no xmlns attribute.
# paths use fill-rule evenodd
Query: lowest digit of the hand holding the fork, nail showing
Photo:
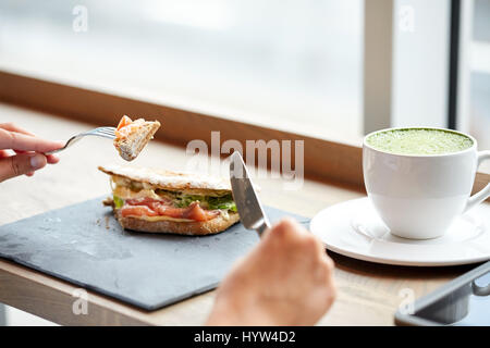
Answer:
<svg viewBox="0 0 490 348"><path fill-rule="evenodd" d="M21 153L0 160L0 183L8 178L40 170L47 163L42 153Z"/></svg>

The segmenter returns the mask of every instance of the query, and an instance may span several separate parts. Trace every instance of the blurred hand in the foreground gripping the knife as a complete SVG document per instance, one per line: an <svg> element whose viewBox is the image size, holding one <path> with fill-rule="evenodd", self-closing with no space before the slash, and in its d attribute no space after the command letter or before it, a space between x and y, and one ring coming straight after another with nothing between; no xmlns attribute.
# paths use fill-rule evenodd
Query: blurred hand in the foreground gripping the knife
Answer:
<svg viewBox="0 0 490 348"><path fill-rule="evenodd" d="M208 325L313 325L335 298L321 241L282 220L218 288Z"/></svg>

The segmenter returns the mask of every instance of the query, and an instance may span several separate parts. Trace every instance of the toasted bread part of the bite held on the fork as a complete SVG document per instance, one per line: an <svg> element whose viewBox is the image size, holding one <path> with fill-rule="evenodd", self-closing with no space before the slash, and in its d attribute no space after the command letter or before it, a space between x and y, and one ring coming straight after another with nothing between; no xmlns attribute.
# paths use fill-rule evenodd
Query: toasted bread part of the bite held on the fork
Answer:
<svg viewBox="0 0 490 348"><path fill-rule="evenodd" d="M137 132L133 132L125 138L115 138L114 146L119 154L126 161L133 161L143 148L152 139L160 127L160 122L145 122Z"/></svg>

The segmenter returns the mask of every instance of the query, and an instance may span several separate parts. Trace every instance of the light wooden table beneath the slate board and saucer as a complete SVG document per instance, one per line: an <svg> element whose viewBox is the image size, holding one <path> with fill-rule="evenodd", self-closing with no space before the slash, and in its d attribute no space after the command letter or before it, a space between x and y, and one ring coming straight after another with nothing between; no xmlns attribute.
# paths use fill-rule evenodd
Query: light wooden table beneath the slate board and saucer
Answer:
<svg viewBox="0 0 490 348"><path fill-rule="evenodd" d="M0 103L0 123L15 122L51 139L68 139L94 125ZM107 175L97 165L123 163L107 139L89 138L63 152L57 165L34 177L0 184L0 225L109 194ZM152 141L134 161L137 165L185 169L183 148ZM305 181L296 191L284 191L278 179L258 179L264 203L313 217L324 207L365 194L339 185ZM357 261L331 253L335 261L339 297L319 325L392 325L405 299L401 289L420 297L473 268L404 268ZM164 309L146 312L111 298L88 293L88 314L75 315L76 286L13 262L0 260L0 302L63 325L201 325L215 291Z"/></svg>

